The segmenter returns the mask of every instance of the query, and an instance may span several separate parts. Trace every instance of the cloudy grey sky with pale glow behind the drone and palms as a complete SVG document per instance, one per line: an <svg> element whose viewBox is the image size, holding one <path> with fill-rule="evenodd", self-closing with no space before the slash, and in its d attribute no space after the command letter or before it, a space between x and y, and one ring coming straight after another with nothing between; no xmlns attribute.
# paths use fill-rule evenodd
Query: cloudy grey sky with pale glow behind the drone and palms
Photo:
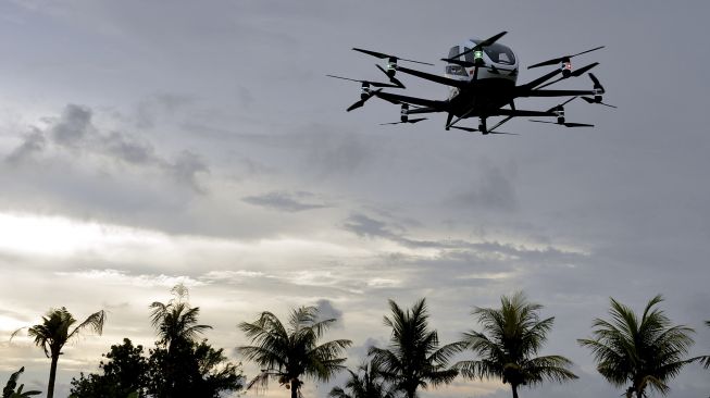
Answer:
<svg viewBox="0 0 710 398"><path fill-rule="evenodd" d="M151 346L148 304L180 282L235 361L248 343L236 324L263 310L339 316L327 337L352 339L357 365L389 336L388 298L426 297L449 343L476 326L474 306L519 289L556 316L543 353L580 375L526 397L622 393L575 341L609 297L640 311L663 294L670 318L697 331L693 355L707 355L708 15L707 1L1 2L0 383L24 365L22 381L46 390L49 360L28 339L7 343L12 331L52 307L105 309L103 336L64 349L64 396L123 337ZM325 77L384 77L352 47L440 74L451 46L501 30L523 66L606 45L574 63L600 62L619 109L575 101L568 120L596 128L506 126L520 136L445 132L443 115L379 126L396 105L346 113L358 85ZM521 69L519 84L541 73ZM401 79L410 95L447 95ZM707 396L710 375L687 366L670 386ZM423 393L509 395L462 380Z"/></svg>

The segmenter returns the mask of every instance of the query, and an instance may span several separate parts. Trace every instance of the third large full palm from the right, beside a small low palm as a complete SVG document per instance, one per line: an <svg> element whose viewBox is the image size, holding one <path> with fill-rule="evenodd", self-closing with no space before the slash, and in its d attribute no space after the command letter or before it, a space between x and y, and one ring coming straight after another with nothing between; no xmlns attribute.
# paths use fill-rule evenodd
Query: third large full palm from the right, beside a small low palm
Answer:
<svg viewBox="0 0 710 398"><path fill-rule="evenodd" d="M447 363L460 350L460 345L439 347L438 334L428 328L425 299L420 299L407 311L389 300L389 308L391 318L385 316L385 325L393 329L389 347L370 348L373 365L408 398L414 398L419 387L451 382L458 372L447 369Z"/></svg>

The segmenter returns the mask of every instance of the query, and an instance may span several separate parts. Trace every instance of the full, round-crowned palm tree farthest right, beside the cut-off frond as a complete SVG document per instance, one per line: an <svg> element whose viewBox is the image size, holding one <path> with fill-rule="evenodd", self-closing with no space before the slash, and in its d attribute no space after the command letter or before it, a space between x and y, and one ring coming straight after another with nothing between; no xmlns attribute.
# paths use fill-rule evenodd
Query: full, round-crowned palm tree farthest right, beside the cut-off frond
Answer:
<svg viewBox="0 0 710 398"><path fill-rule="evenodd" d="M684 360L693 345L684 325L671 325L671 320L656 307L663 301L658 295L646 304L640 320L634 311L611 298L610 321L596 319L594 338L578 339L591 349L597 371L611 384L626 389L626 397L646 396L646 388L663 395L670 390L668 382L693 360Z"/></svg>

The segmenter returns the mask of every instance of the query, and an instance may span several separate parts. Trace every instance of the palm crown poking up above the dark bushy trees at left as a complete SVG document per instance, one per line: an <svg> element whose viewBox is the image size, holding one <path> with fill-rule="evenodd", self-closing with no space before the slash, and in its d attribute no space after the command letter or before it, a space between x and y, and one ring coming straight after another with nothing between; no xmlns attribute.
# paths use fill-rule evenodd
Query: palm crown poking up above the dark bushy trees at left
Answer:
<svg viewBox="0 0 710 398"><path fill-rule="evenodd" d="M152 312L150 319L158 332L158 344L167 347L171 352L175 345L191 344L198 334L212 328L210 325L200 325L197 319L200 314L199 307L190 307L187 287L182 284L171 289L175 298L166 304L154 301L150 304Z"/></svg>

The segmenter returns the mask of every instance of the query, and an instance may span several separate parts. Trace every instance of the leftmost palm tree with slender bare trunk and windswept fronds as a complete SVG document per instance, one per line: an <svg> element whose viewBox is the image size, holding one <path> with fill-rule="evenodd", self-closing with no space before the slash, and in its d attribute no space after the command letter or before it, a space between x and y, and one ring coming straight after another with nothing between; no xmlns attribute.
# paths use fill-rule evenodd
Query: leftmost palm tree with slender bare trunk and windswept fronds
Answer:
<svg viewBox="0 0 710 398"><path fill-rule="evenodd" d="M74 316L66 311L66 308L50 309L45 316L42 323L30 326L27 329L27 335L35 339L35 345L45 350L45 356L51 358L52 362L49 368L49 383L47 385L47 398L54 396L54 381L57 378L57 362L61 356L62 348L73 337L78 337L79 333L85 328L92 329L96 334L100 335L103 331L103 323L105 322L105 312L103 310L90 314L84 322L70 331L72 325L77 321ZM17 335L24 327L16 329L12 337ZM10 337L12 339L12 337Z"/></svg>

